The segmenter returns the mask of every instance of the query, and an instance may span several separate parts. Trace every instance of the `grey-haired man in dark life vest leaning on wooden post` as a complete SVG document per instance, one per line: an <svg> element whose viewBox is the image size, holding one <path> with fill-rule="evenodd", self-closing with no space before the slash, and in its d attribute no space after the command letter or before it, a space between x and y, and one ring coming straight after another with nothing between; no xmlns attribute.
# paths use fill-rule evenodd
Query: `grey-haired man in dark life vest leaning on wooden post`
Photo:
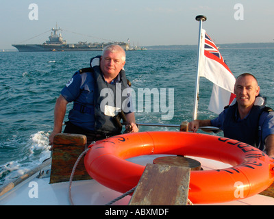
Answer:
<svg viewBox="0 0 274 219"><path fill-rule="evenodd" d="M125 111L129 132L138 132L132 97L125 77L125 51L116 44L103 49L101 56L90 60L90 68L77 71L61 91L55 103L54 128L49 144L62 131L66 105L73 102L64 133L87 136L88 144L121 133L117 114ZM127 108L125 110L125 108Z"/></svg>

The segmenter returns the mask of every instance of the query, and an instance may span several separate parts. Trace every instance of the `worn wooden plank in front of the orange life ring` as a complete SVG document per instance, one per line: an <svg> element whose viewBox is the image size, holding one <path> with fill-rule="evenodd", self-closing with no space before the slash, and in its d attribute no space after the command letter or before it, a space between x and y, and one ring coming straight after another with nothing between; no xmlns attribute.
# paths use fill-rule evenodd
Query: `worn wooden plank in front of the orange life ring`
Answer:
<svg viewBox="0 0 274 219"><path fill-rule="evenodd" d="M187 205L190 168L147 164L129 205Z"/></svg>

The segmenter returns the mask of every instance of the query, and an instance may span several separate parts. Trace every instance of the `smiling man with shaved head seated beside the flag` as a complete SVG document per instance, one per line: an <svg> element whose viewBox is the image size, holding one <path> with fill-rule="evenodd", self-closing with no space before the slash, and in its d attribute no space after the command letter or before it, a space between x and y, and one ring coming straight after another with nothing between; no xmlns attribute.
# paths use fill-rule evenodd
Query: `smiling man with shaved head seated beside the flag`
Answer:
<svg viewBox="0 0 274 219"><path fill-rule="evenodd" d="M249 73L240 75L234 86L236 99L213 120L194 120L188 129L214 126L223 130L225 138L232 138L256 146L274 158L274 112L266 107L260 96L256 77Z"/></svg>

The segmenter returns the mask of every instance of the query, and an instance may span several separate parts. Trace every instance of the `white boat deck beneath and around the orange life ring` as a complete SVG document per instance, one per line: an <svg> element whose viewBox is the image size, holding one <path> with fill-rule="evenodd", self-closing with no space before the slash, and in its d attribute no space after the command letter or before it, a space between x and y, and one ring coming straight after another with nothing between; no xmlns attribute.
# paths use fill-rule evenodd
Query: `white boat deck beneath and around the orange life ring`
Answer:
<svg viewBox="0 0 274 219"><path fill-rule="evenodd" d="M129 160L145 165L152 163L153 159L159 156L141 156ZM195 159L201 162L203 170L216 168L216 166L225 168L228 165L199 157L195 157ZM49 166L44 170L47 169L49 169ZM10 190L10 192L3 194L0 197L0 205L71 205L69 182L50 184L49 177L38 179L37 176L38 172ZM35 197L34 194L37 196ZM121 193L110 190L93 179L73 181L71 187L71 197L74 205L106 205L120 195ZM126 196L113 205L127 205L130 198L131 196ZM274 205L274 198L258 194L243 200L216 203L216 205Z"/></svg>

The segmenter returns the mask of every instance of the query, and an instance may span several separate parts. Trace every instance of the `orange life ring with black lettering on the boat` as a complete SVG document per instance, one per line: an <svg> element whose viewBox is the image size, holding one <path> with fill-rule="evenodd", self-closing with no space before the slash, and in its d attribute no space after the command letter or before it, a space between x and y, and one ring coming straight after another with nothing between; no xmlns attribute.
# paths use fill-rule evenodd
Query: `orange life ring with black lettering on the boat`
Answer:
<svg viewBox="0 0 274 219"><path fill-rule="evenodd" d="M222 203L247 198L274 181L273 159L249 144L201 133L158 131L129 133L90 145L84 164L88 174L118 192L134 188L145 166L125 159L140 155L189 155L232 165L221 170L192 171L192 203ZM240 192L238 192L240 191Z"/></svg>

